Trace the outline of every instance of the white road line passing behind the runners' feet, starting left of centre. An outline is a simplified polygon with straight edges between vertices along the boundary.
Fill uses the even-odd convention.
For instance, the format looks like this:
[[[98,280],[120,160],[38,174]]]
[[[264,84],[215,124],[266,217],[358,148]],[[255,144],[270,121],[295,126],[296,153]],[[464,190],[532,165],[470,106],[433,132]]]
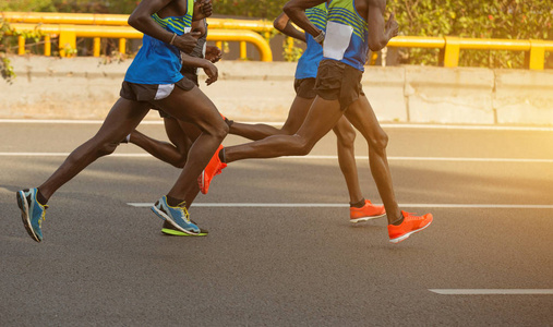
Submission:
[[[132,207],[151,207],[153,203],[130,202]],[[375,204],[382,205],[382,204]],[[235,207],[235,208],[345,208],[344,203],[193,203],[193,207]],[[525,204],[399,204],[405,208],[467,208],[467,209],[553,209],[553,205]]]

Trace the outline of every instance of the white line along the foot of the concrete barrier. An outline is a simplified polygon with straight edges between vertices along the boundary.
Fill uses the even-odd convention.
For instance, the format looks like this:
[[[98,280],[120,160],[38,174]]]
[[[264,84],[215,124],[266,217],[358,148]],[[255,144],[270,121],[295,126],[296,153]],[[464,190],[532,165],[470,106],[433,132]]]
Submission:
[[[69,119],[0,119],[0,123],[36,123],[36,124],[101,124],[103,120],[69,120]],[[284,122],[254,122],[251,124],[284,125]],[[142,125],[161,125],[163,120],[143,120]],[[505,126],[505,125],[457,125],[424,123],[381,123],[384,129],[428,129],[428,130],[469,130],[469,131],[541,131],[553,132],[550,126]]]

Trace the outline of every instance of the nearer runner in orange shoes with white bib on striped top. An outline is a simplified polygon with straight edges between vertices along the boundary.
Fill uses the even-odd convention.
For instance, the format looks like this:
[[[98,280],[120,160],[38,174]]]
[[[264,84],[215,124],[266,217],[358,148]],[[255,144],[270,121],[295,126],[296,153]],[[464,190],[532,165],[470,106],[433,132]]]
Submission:
[[[317,96],[304,123],[294,135],[274,135],[231,146],[219,150],[218,157],[228,164],[245,158],[306,155],[345,114],[369,144],[371,173],[386,208],[389,241],[398,243],[425,229],[433,218],[432,214],[414,216],[399,209],[386,157],[388,137],[361,87],[368,50],[384,48],[397,36],[398,25],[394,15],[384,21],[385,0],[330,0],[325,35],[305,15],[308,8],[323,2],[291,0],[284,8],[293,23],[324,45],[315,84]]]

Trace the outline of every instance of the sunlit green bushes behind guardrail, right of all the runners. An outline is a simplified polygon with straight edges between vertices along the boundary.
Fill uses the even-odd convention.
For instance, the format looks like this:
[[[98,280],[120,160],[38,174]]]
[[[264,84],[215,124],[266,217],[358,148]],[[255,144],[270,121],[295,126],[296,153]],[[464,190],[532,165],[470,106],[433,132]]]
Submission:
[[[402,35],[552,39],[551,0],[389,0]],[[436,64],[436,51],[409,49],[406,63]],[[462,50],[459,65],[522,68],[516,51]]]

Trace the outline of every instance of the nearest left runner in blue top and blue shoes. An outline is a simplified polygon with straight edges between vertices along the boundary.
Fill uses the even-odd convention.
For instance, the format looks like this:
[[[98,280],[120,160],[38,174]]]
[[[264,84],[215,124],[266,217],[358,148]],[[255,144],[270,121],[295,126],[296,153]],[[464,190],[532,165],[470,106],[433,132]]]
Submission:
[[[202,133],[190,148],[187,161],[172,189],[152,207],[182,232],[199,235],[202,230],[190,220],[184,197],[228,132],[213,102],[182,76],[181,51],[190,52],[199,33],[191,33],[192,20],[212,14],[209,0],[143,0],[129,17],[129,25],[144,33],[143,46],[127,71],[121,98],[113,105],[97,134],[73,150],[40,186],[16,192],[17,205],[29,235],[43,240],[41,221],[52,194],[89,164],[111,154],[133,131],[152,107],[161,108],[178,120],[191,122]],[[206,70],[206,73],[213,72]]]

